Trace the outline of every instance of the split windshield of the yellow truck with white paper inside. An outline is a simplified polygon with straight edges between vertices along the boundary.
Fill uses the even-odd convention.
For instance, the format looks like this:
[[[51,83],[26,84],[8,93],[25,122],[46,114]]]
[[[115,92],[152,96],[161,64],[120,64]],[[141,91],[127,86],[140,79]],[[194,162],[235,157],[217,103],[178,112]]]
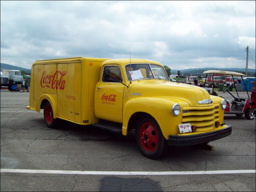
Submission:
[[[162,66],[156,64],[127,64],[125,65],[125,73],[129,81],[138,79],[163,79],[169,81]]]

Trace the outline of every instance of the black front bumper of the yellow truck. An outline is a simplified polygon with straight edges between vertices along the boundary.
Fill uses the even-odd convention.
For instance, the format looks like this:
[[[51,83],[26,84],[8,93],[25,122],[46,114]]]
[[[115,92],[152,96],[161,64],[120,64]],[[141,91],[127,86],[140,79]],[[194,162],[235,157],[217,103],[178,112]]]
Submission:
[[[207,133],[200,133],[195,135],[187,135],[187,136],[179,136],[179,135],[169,135],[168,137],[168,144],[171,146],[189,146],[189,145],[196,145],[196,144],[203,144],[208,143],[210,141],[215,141],[217,139],[221,139],[223,137],[227,137],[231,135],[232,126],[227,124],[228,127],[207,132]]]

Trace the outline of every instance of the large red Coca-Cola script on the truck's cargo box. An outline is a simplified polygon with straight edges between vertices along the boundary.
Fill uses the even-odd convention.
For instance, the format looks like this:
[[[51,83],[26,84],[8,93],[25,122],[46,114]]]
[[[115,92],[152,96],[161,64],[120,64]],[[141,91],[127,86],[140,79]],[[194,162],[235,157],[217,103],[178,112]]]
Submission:
[[[41,87],[64,90],[65,81],[63,80],[63,77],[66,75],[66,73],[67,71],[56,71],[54,75],[45,75],[46,71],[44,71],[41,77]],[[58,74],[61,76],[57,80],[56,77],[58,77]]]

